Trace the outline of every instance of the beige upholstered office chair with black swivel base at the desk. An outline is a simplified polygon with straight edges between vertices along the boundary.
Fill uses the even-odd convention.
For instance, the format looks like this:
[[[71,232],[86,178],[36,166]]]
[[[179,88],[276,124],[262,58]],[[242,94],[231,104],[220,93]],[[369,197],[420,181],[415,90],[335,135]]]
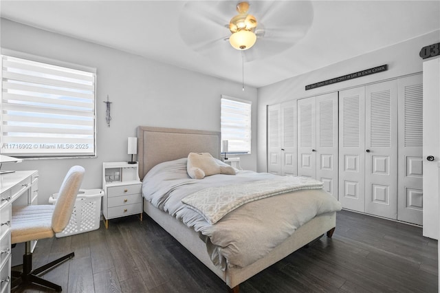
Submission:
[[[74,252],[32,270],[30,241],[54,237],[55,233],[63,231],[69,224],[84,173],[85,170],[82,166],[73,166],[67,172],[55,205],[12,207],[11,243],[25,242],[23,272],[12,272],[12,276],[17,278],[12,281],[12,287],[35,283],[61,292],[60,285],[42,279],[37,275],[43,274],[67,259],[71,259],[75,255]]]

